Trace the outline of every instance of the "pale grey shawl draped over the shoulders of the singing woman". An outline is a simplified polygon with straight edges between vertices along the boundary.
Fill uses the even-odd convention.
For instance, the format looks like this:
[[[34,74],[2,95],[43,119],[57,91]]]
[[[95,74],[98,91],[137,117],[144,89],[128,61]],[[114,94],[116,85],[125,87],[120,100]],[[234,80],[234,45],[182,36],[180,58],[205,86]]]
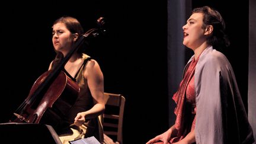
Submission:
[[[194,84],[197,144],[254,142],[235,75],[225,55],[207,47],[197,62]]]

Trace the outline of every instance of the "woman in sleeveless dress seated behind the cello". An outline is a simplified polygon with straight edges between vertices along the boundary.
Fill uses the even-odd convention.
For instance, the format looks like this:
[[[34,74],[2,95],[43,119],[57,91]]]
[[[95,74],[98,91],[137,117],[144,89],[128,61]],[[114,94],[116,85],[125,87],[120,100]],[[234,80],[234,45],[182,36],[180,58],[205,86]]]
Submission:
[[[52,42],[56,52],[49,70],[68,55],[73,45],[84,34],[84,30],[76,18],[60,17],[53,23]],[[105,110],[104,78],[98,62],[84,53],[79,47],[66,62],[62,71],[79,85],[78,97],[71,110],[65,113],[65,120],[59,121],[55,128],[62,143],[71,140],[94,136],[103,142],[103,127],[99,119]],[[69,95],[74,97],[74,95]]]

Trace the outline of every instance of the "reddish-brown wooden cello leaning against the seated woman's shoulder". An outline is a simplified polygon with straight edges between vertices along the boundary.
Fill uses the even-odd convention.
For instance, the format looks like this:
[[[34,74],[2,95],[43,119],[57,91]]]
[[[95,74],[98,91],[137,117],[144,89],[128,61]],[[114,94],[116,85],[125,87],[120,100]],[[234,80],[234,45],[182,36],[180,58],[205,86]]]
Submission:
[[[74,43],[73,49],[53,69],[44,72],[34,82],[28,97],[15,110],[14,116],[9,122],[43,123],[53,127],[57,126],[75,103],[80,90],[78,84],[63,72],[64,66],[82,44],[105,34],[104,18],[98,18],[97,24],[100,28],[92,28],[79,37]],[[70,95],[76,97],[70,97]],[[46,114],[50,114],[50,119],[44,117]]]

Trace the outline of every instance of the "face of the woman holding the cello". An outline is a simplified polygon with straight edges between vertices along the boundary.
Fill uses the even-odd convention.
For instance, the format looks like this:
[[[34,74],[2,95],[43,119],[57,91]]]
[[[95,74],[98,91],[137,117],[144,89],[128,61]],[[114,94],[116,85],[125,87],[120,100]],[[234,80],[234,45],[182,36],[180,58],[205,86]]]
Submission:
[[[53,25],[53,46],[55,50],[62,52],[63,55],[69,52],[73,44],[73,34],[66,28],[64,23]]]

